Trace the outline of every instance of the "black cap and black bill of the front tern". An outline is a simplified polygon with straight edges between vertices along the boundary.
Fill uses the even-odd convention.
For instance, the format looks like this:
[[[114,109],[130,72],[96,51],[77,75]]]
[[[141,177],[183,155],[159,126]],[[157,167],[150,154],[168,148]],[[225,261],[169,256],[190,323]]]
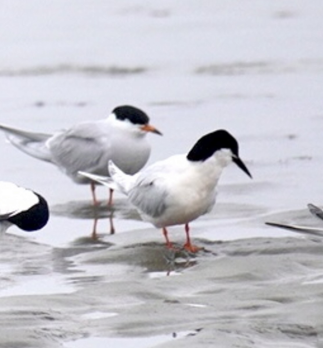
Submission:
[[[250,177],[247,167],[239,158],[239,145],[236,139],[224,129],[202,136],[190,150],[187,159],[190,161],[205,161],[221,149],[230,149],[233,162]]]

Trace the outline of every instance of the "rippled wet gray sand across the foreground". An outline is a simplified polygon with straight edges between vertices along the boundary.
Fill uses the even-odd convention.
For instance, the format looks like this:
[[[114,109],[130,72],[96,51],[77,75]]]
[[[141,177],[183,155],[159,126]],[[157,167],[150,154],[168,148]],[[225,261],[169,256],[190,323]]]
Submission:
[[[63,278],[71,288],[1,296],[1,346],[82,347],[99,337],[114,347],[113,338],[150,337],[149,347],[156,342],[158,347],[318,347],[323,334],[321,241],[198,242],[208,252],[191,263],[178,255],[174,265],[159,244],[74,251],[74,256],[65,251],[63,258],[38,245],[47,265],[55,257],[69,263]],[[35,246],[23,244],[26,263],[28,248]],[[40,282],[45,279],[39,274]],[[179,338],[172,337],[175,333]]]

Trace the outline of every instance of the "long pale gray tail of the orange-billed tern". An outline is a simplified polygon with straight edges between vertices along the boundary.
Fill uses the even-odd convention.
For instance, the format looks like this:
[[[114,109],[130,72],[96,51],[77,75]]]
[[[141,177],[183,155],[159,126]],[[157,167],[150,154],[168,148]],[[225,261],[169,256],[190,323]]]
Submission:
[[[0,125],[0,129],[5,132],[9,142],[19,150],[32,157],[52,162],[51,153],[46,147],[46,141],[52,136],[51,134],[31,133],[3,125]]]

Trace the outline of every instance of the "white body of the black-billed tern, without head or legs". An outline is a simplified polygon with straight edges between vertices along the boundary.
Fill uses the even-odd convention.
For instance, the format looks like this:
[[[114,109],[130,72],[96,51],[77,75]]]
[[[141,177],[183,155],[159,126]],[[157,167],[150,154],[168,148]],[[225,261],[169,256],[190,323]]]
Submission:
[[[157,228],[185,224],[208,213],[215,204],[222,171],[216,158],[200,166],[187,161],[186,155],[156,162],[133,177],[127,175],[126,180],[121,178],[124,174],[115,174],[113,166],[109,166],[113,180],[126,183],[121,190],[143,219]]]

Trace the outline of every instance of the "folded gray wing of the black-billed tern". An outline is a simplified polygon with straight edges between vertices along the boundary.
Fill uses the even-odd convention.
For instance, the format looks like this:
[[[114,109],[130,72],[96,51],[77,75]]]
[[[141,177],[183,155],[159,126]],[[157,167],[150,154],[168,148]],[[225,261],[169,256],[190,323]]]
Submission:
[[[141,213],[151,217],[158,217],[165,211],[167,196],[163,179],[154,175],[144,179],[139,176],[136,185],[128,193],[130,202]]]

